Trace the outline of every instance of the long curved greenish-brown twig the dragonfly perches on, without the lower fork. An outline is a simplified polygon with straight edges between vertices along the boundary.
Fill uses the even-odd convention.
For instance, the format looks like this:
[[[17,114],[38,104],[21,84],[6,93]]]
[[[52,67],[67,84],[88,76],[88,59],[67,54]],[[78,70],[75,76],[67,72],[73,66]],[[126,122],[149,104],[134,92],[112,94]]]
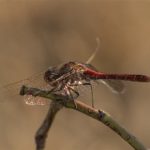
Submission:
[[[89,117],[101,121],[103,124],[112,129],[115,133],[117,133],[122,139],[128,142],[135,150],[146,150],[145,146],[135,136],[129,133],[125,128],[121,127],[109,114],[107,114],[103,110],[95,109],[77,100],[76,105],[74,105],[72,101],[66,100],[66,97],[63,95],[49,93],[48,91],[40,90],[37,88],[23,86],[20,94],[40,96],[51,99],[55,102],[61,102],[66,108],[80,111]]]

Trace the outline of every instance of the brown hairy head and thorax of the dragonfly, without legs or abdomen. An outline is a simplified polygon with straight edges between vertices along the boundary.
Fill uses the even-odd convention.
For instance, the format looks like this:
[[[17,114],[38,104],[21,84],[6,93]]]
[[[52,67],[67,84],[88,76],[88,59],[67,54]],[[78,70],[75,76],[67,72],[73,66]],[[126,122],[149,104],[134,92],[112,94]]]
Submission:
[[[44,73],[44,80],[52,87],[57,87],[58,85],[79,85],[85,77],[82,76],[83,67],[80,63],[69,62],[63,64],[60,67],[50,67]]]

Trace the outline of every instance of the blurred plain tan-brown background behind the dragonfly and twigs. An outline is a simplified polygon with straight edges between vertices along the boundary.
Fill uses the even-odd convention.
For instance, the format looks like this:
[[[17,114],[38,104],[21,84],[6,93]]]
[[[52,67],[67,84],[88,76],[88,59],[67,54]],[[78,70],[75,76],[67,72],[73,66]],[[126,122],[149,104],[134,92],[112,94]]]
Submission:
[[[96,48],[96,37],[100,50],[92,64],[97,69],[150,75],[148,1],[1,0],[1,87],[49,66],[86,62]],[[103,85],[96,87],[95,106],[150,147],[150,84],[125,85],[121,96]],[[18,97],[7,100],[0,103],[0,149],[35,149],[34,135],[48,106],[31,107]],[[102,123],[67,109],[56,116],[45,149],[132,150]]]

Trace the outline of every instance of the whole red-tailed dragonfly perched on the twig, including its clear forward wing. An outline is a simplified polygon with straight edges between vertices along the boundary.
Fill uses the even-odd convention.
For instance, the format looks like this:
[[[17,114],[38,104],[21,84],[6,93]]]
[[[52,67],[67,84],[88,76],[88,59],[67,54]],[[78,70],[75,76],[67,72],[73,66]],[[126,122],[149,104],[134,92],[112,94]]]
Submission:
[[[49,67],[46,71],[41,72],[40,74],[7,85],[5,88],[8,90],[17,89],[17,93],[19,93],[20,87],[23,84],[36,87],[36,84],[38,85],[39,82],[40,84],[42,83],[40,88],[49,90],[53,93],[64,94],[70,99],[75,100],[80,96],[78,87],[88,86],[91,89],[92,106],[94,107],[92,82],[97,81],[101,81],[114,93],[123,93],[125,87],[122,81],[150,82],[150,76],[141,74],[105,73],[98,71],[91,64],[70,61],[59,66]],[[25,103],[29,105],[45,105],[47,104],[47,101],[31,95],[25,97]]]

